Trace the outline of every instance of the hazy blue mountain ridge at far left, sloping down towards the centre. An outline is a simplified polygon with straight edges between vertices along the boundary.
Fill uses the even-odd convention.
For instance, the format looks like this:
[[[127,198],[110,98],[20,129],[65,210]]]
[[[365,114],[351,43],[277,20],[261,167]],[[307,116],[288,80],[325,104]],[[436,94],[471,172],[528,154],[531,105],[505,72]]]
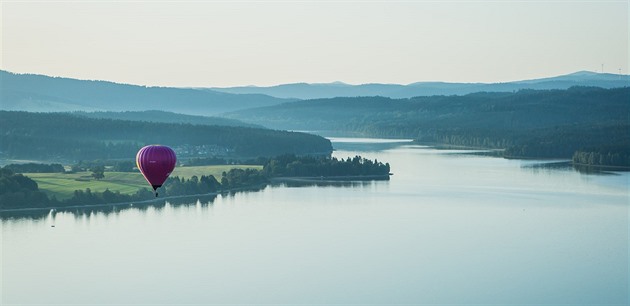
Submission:
[[[3,110],[143,111],[159,109],[194,115],[215,115],[288,100],[261,94],[230,94],[211,90],[146,87],[107,81],[88,81],[16,74],[0,70]]]

